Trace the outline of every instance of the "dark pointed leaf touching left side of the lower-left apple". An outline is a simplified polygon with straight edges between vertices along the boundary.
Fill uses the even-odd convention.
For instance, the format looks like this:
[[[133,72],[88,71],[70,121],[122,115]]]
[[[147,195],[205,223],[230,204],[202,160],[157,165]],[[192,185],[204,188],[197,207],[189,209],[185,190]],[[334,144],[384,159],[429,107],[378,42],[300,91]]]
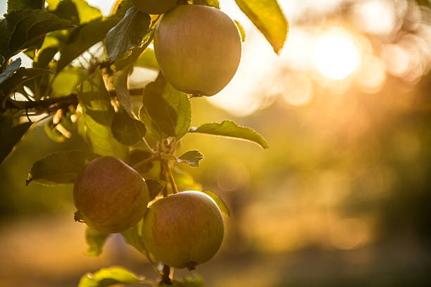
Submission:
[[[73,184],[85,165],[94,158],[97,158],[97,155],[83,151],[51,153],[32,165],[25,185],[31,181],[46,186]]]

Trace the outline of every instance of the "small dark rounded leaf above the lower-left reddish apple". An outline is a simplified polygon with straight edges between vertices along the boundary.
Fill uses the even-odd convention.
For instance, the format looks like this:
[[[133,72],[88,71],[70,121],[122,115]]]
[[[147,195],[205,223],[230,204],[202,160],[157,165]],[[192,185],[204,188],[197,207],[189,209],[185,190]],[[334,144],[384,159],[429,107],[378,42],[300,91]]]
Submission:
[[[144,124],[127,115],[124,110],[120,110],[113,116],[111,131],[114,138],[126,146],[142,141],[145,136]]]

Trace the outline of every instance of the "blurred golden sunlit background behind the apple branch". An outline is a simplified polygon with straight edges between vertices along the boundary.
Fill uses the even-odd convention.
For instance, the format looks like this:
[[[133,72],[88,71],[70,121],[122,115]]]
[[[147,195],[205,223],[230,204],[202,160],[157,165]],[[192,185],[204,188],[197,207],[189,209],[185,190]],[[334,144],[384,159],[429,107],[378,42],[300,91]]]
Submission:
[[[105,15],[113,4],[88,2]],[[245,29],[242,63],[220,94],[192,100],[192,125],[235,120],[270,148],[185,137],[183,151],[206,157],[187,171],[231,210],[222,249],[197,273],[210,287],[431,286],[430,1],[279,2],[291,27],[276,56],[220,0]],[[71,146],[84,146],[77,133],[58,144],[39,125],[1,163],[0,286],[77,286],[112,264],[155,278],[120,236],[84,255],[72,186],[25,187],[32,162]]]

